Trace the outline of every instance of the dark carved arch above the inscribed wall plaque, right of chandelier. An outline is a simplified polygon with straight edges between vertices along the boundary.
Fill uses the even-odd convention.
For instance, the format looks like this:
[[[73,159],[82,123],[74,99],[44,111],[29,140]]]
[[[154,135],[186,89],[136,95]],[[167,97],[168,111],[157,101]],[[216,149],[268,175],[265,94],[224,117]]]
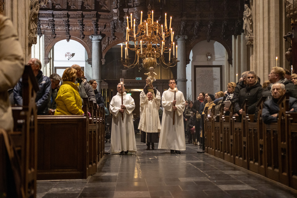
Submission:
[[[190,53],[191,53],[191,50],[193,49],[193,47],[201,42],[201,41],[205,41],[207,40],[206,36],[205,37],[200,37],[199,39],[193,41],[189,47],[186,49],[186,57],[187,57],[187,63],[188,63],[188,60],[190,60]],[[224,48],[226,49],[227,51],[227,54],[228,54],[228,63],[230,65],[232,65],[232,46],[229,46],[224,40],[218,38],[218,37],[211,37],[211,40],[213,41],[217,41],[219,42],[220,44],[222,44],[224,46]]]

